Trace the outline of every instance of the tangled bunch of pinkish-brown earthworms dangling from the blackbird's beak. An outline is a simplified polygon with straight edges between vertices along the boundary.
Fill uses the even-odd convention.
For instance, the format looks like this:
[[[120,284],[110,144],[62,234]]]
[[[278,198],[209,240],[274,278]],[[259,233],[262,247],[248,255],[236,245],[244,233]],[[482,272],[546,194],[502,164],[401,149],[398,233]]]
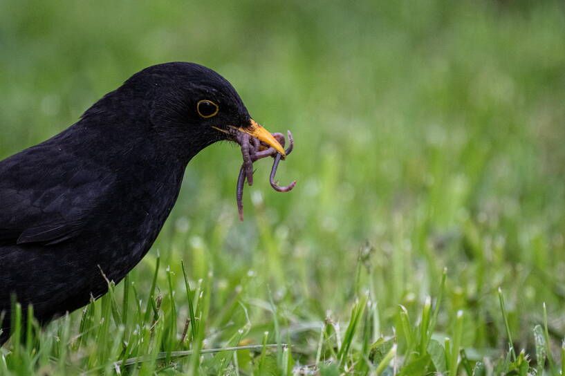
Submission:
[[[272,136],[284,147],[285,140],[284,135],[281,133],[271,133]],[[288,131],[288,149],[285,150],[286,155],[290,154],[294,148],[293,135]],[[236,141],[241,145],[241,156],[243,157],[243,163],[239,169],[239,176],[237,177],[237,187],[236,187],[236,199],[237,199],[237,212],[239,213],[239,219],[243,220],[243,187],[245,186],[246,179],[249,185],[253,184],[253,162],[272,156],[275,160],[272,163],[272,169],[269,176],[269,182],[273,189],[279,192],[288,192],[293,189],[296,185],[296,180],[293,180],[286,187],[279,187],[278,182],[275,182],[275,174],[277,173],[277,168],[279,162],[283,159],[281,153],[273,147],[264,147],[261,142],[250,135],[239,132],[235,134]],[[265,148],[261,150],[261,148]]]

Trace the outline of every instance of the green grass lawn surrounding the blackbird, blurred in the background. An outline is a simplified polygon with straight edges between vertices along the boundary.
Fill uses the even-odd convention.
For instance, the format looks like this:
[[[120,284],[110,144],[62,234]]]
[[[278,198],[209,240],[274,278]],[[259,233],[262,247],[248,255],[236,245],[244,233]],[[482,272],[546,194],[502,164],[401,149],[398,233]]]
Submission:
[[[238,151],[206,149],[128,279],[17,326],[28,340],[0,349],[0,375],[559,375],[564,12],[0,0],[0,158],[182,60],[293,131],[279,178],[298,180],[277,194],[259,162],[239,223]]]

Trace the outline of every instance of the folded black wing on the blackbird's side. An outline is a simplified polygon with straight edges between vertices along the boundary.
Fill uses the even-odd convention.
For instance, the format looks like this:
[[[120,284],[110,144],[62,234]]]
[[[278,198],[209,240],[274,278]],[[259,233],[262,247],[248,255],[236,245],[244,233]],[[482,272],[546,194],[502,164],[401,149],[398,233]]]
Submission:
[[[70,153],[33,147],[0,162],[0,245],[52,245],[98,215],[114,177]]]

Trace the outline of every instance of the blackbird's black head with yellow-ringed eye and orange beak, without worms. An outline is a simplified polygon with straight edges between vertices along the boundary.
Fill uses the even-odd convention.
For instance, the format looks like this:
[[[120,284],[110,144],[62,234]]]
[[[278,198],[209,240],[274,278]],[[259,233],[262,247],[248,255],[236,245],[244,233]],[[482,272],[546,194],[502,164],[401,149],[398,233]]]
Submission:
[[[281,144],[252,120],[230,82],[205,66],[185,62],[150,66],[118,91],[144,104],[152,129],[183,158],[192,158],[216,141],[235,140],[235,130],[284,156]]]

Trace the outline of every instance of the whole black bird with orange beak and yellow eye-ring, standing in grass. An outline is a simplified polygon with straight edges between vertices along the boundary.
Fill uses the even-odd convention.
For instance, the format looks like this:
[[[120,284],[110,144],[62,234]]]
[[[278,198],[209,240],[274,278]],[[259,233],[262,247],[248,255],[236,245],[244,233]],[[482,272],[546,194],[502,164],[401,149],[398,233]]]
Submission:
[[[233,129],[284,156],[225,78],[172,62],[136,73],[68,129],[2,160],[0,344],[14,297],[46,323],[104,294],[104,275],[118,283],[154,243],[189,160],[235,140]]]

